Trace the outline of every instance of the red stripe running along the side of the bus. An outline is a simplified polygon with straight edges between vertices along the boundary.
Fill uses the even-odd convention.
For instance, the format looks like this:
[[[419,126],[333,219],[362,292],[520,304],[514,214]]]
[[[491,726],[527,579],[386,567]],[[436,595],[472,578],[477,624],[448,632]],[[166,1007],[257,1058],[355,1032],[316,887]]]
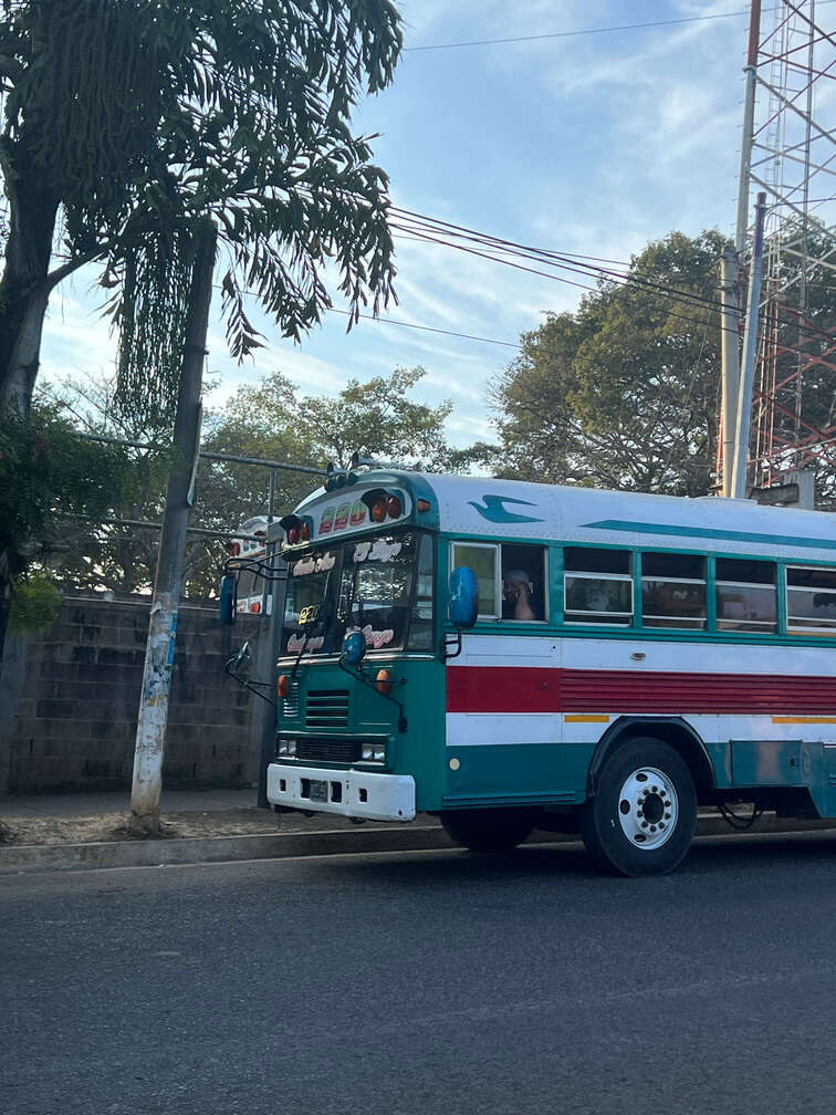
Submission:
[[[448,712],[836,714],[836,678],[450,666]]]

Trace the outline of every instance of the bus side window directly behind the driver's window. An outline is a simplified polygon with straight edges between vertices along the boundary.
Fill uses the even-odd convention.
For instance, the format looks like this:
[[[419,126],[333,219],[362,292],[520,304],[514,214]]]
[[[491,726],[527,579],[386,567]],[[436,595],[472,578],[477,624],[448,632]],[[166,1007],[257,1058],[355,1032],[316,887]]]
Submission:
[[[629,627],[633,621],[632,554],[628,550],[566,546],[565,620]]]

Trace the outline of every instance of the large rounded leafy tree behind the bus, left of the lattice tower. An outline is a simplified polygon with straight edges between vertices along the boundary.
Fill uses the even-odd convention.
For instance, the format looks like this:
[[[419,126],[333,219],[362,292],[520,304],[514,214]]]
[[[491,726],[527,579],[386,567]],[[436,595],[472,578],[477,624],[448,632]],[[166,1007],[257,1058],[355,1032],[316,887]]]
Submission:
[[[715,467],[719,233],[672,233],[575,313],[523,337],[493,385],[504,475],[697,495]]]

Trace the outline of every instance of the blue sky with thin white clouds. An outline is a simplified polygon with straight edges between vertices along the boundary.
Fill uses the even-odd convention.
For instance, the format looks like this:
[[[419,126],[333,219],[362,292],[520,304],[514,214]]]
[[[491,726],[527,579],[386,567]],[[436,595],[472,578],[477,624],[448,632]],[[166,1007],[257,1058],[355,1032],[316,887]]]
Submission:
[[[401,0],[405,51],[393,85],[364,100],[354,128],[377,134],[375,161],[396,205],[526,244],[629,260],[679,230],[731,233],[748,20],[741,0]],[[624,29],[664,20],[693,22]],[[601,31],[602,28],[622,28]],[[577,33],[583,32],[583,33]],[[589,33],[594,32],[594,33]],[[420,49],[552,35],[535,41]],[[516,343],[583,291],[440,245],[396,240],[401,322]],[[95,273],[52,297],[47,378],[113,371],[115,341],[98,313]],[[337,307],[344,306],[334,298]],[[222,406],[243,384],[285,374],[302,394],[336,395],[395,367],[420,365],[414,398],[449,399],[449,440],[495,434],[487,385],[513,348],[330,314],[301,345],[252,307],[266,347],[236,363],[220,297],[208,371]]]

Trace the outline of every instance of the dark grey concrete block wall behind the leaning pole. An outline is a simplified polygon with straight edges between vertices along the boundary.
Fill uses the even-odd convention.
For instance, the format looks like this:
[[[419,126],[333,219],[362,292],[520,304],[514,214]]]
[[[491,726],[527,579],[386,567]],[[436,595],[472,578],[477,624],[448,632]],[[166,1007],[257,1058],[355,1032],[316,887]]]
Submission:
[[[148,607],[147,599],[68,598],[50,629],[7,643],[0,794],[130,785]],[[227,628],[213,608],[181,608],[165,785],[257,780],[257,698],[223,666],[244,639],[255,643],[264,622],[240,617]]]

